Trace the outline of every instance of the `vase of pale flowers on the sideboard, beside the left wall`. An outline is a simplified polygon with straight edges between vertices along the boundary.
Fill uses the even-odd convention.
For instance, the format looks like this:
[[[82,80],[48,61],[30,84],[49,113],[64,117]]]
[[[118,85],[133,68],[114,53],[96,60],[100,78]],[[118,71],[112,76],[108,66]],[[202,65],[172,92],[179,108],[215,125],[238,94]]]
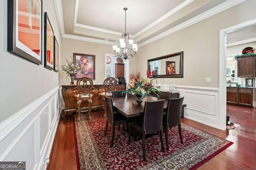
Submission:
[[[71,78],[70,84],[74,84],[74,76],[76,76],[76,74],[80,68],[79,68],[78,64],[74,64],[74,61],[72,58],[71,58],[71,61],[68,61],[68,59],[66,59],[66,62],[68,63],[68,65],[62,65],[62,66],[60,66],[60,68],[62,68],[62,71],[66,72],[66,74],[68,74],[68,76],[70,76],[70,78]],[[68,76],[67,76],[67,78],[68,78]]]

